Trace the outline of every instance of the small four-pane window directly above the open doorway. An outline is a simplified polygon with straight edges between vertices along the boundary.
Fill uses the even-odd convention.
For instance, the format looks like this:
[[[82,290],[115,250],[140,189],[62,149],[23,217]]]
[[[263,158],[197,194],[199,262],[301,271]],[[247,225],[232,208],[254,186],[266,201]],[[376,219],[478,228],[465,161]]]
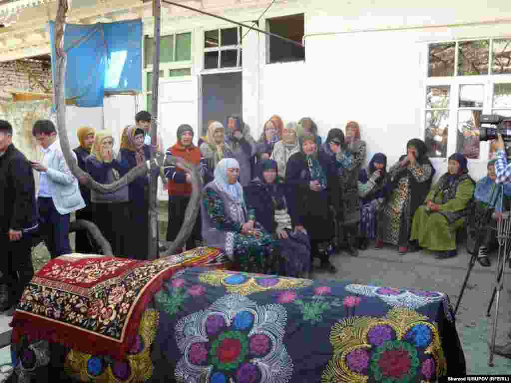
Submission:
[[[241,28],[223,28],[204,32],[204,69],[242,66]]]

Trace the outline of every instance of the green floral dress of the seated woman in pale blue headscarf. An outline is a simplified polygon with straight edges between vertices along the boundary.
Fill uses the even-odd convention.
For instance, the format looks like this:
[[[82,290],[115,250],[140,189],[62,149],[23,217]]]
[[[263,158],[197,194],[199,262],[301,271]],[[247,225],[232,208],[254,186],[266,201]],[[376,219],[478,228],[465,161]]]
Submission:
[[[214,228],[225,234],[224,250],[227,256],[234,259],[241,271],[274,273],[278,267],[277,242],[259,223],[254,225],[254,229],[261,232],[260,236],[242,234],[243,224],[249,220],[255,221],[253,210],[247,210],[245,202],[225,203],[226,196],[222,199],[220,193],[212,187],[204,190],[203,211]]]

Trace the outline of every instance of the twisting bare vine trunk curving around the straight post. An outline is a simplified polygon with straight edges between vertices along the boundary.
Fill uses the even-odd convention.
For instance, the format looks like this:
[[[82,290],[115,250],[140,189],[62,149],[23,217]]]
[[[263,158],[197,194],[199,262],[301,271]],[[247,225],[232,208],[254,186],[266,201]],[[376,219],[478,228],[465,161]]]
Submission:
[[[71,154],[71,148],[69,147],[69,140],[67,137],[67,130],[65,126],[65,71],[66,71],[66,53],[64,51],[64,28],[65,28],[65,18],[68,10],[67,0],[57,0],[57,16],[55,19],[55,47],[56,47],[56,76],[55,76],[55,104],[57,108],[57,127],[58,134],[60,139],[60,146],[62,149],[62,153],[64,154],[64,158],[66,160],[67,166],[71,170],[71,173],[80,181],[80,183],[84,184],[86,187],[95,190],[99,193],[113,193],[123,186],[129,184],[136,178],[140,176],[146,176],[148,172],[148,167],[154,169],[154,167],[158,167],[161,169],[161,166],[164,165],[164,156],[162,153],[156,154],[156,158],[153,161],[148,161],[148,164],[141,164],[134,167],[130,170],[125,176],[123,176],[118,181],[103,185],[94,181],[89,174],[85,173],[78,166],[77,161],[75,161],[73,155]],[[158,33],[159,36],[159,33]],[[158,74],[155,75],[156,79],[158,78]],[[158,82],[156,80],[156,82]],[[153,122],[154,124],[154,122]],[[154,129],[154,127],[153,127]],[[153,142],[154,138],[152,138]],[[200,210],[200,196],[201,196],[201,180],[197,169],[191,163],[184,161],[182,158],[169,156],[165,159],[165,165],[175,164],[182,169],[186,169],[190,172],[192,177],[192,195],[190,198],[190,203],[187,206],[187,210],[185,213],[184,223],[176,237],[176,240],[172,243],[170,248],[165,252],[165,255],[171,255],[175,252],[176,249],[183,247],[184,243],[187,241],[190,233],[192,232],[193,225],[197,218],[197,214]],[[157,225],[156,225],[157,226]]]

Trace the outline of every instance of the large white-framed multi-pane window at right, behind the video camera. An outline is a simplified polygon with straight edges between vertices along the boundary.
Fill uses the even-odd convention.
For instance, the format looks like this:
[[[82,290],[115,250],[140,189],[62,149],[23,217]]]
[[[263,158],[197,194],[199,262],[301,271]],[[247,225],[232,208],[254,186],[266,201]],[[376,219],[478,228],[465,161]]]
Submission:
[[[511,116],[511,39],[428,44],[425,142],[430,157],[485,160],[481,114]],[[450,127],[456,127],[449,129]]]

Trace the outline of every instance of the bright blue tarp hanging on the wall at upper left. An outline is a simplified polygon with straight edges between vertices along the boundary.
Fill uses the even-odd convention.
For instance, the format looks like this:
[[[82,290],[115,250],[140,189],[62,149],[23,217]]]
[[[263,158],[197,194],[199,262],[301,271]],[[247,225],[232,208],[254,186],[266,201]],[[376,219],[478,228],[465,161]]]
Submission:
[[[55,22],[50,22],[52,78],[55,84]],[[77,106],[103,106],[103,95],[142,90],[142,21],[94,25],[66,24],[65,98]]]

